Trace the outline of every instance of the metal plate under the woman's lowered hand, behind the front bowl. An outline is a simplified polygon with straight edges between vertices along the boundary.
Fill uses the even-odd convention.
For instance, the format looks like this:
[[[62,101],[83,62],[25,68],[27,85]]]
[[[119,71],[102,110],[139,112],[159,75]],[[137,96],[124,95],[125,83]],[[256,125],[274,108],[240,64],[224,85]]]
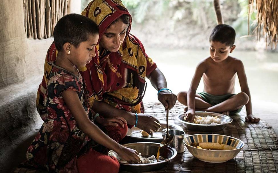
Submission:
[[[128,129],[126,133],[126,138],[128,138],[128,142],[157,142],[160,143],[163,140],[162,137],[162,130],[166,129],[166,123],[160,123],[161,129],[154,132],[153,136],[143,137],[141,132],[142,130],[138,127],[132,127],[131,129]],[[176,124],[169,124],[170,130],[182,130],[182,127]]]

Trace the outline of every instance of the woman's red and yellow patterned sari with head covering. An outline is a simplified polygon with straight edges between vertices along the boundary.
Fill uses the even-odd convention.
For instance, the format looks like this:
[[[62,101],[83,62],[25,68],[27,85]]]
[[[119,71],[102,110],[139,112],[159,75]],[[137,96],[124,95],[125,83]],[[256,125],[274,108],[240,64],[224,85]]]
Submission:
[[[82,11],[98,24],[99,38],[106,28],[123,14],[130,15],[120,0],[94,0]],[[90,106],[94,100],[104,101],[111,106],[129,112],[143,112],[142,98],[146,90],[146,76],[156,69],[156,64],[146,54],[144,46],[130,34],[131,21],[126,38],[117,52],[99,51],[86,67],[78,67],[86,80]],[[48,73],[56,60],[54,43],[47,52],[45,73],[37,94],[37,108],[40,114],[46,111],[43,100],[48,83]],[[42,117],[43,118],[43,117]],[[44,119],[44,118],[43,118]]]

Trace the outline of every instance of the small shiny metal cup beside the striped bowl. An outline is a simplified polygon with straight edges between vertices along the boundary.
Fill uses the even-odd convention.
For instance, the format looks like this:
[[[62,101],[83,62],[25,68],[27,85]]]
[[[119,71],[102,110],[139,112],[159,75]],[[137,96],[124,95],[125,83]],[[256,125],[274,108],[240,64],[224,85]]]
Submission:
[[[166,129],[165,129],[166,130]],[[164,130],[163,130],[164,131]],[[184,152],[184,143],[182,140],[184,139],[184,131],[181,130],[168,130],[169,135],[174,135],[173,141],[170,143],[170,146],[177,150],[177,153]],[[163,138],[165,139],[166,131],[162,133]]]

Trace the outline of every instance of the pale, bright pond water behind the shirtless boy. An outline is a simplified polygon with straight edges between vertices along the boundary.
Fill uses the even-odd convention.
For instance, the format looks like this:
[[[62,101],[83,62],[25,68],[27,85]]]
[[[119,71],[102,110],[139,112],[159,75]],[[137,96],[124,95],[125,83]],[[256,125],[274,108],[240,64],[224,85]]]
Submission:
[[[188,90],[196,65],[209,56],[209,50],[166,50],[146,48],[158,68],[164,73],[168,88],[178,94]],[[237,51],[230,56],[241,59],[245,67],[252,102],[271,102],[278,104],[278,53]],[[157,102],[157,91],[147,80],[148,86],[144,102]],[[202,79],[197,92],[203,90]],[[236,79],[235,92],[241,92]]]

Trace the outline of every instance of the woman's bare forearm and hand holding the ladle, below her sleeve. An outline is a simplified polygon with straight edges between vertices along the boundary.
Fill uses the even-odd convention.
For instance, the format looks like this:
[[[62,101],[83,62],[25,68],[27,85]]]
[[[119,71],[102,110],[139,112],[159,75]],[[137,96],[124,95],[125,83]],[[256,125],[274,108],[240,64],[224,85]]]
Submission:
[[[152,86],[157,90],[161,90],[162,88],[167,88],[167,82],[163,75],[163,73],[158,69],[154,69],[152,73],[147,76],[150,80]],[[177,96],[168,90],[162,90],[158,94],[158,100],[163,104],[165,109],[172,109],[177,101]]]

